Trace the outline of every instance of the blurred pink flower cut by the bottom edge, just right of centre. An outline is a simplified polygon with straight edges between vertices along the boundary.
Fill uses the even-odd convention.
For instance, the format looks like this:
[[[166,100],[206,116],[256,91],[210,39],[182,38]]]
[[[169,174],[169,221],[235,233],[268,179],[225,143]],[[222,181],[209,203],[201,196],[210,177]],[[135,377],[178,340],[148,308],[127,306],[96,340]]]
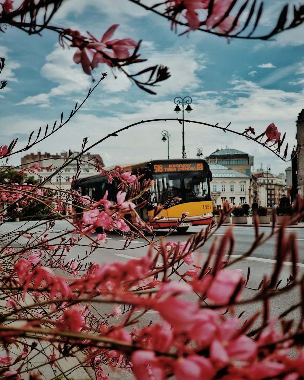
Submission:
[[[211,380],[216,372],[211,361],[199,355],[179,358],[174,363],[174,375],[177,380]]]

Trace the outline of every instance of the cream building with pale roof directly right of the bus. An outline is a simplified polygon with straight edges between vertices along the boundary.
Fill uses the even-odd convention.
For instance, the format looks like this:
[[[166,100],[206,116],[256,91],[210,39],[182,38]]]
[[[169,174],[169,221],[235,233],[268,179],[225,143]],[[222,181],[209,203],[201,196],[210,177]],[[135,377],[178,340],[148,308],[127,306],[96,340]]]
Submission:
[[[215,207],[227,199],[236,206],[251,203],[251,177],[219,164],[209,165],[212,173],[211,197]]]

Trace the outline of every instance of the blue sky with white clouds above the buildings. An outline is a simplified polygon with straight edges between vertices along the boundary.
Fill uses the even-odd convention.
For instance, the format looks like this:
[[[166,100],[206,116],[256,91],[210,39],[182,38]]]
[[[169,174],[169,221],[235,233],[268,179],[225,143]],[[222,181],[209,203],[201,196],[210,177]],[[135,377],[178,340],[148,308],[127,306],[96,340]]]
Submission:
[[[153,4],[152,0],[143,3]],[[15,2],[17,3],[17,1]],[[269,30],[286,1],[268,0],[260,30]],[[289,2],[292,4],[293,2]],[[295,2],[298,6],[299,2]],[[142,40],[139,53],[147,62],[130,65],[130,72],[161,64],[171,77],[160,83],[151,95],[133,85],[119,71],[99,65],[95,79],[107,71],[76,115],[57,133],[23,154],[12,155],[10,165],[19,165],[30,152],[81,150],[82,139],[88,146],[120,128],[141,120],[177,117],[175,97],[192,98],[190,114],[185,119],[218,123],[239,132],[249,126],[256,135],[274,123],[285,133],[289,154],[296,144],[296,119],[304,108],[304,26],[277,35],[271,41],[230,40],[194,31],[180,35],[170,22],[128,0],[65,0],[50,25],[79,30],[100,39],[113,24],[119,24],[114,38]],[[18,138],[14,150],[27,144],[29,135],[55,120],[67,118],[76,102],[81,103],[94,86],[92,78],[73,62],[75,48],[63,49],[58,35],[44,30],[28,36],[8,27],[0,33],[0,56],[5,56],[1,80],[8,85],[0,91],[0,146]],[[181,112],[178,117],[181,117]],[[106,166],[138,163],[167,158],[167,143],[161,141],[163,130],[169,135],[170,158],[182,158],[182,125],[177,121],[150,122],[129,128],[90,149],[100,154]],[[42,133],[43,133],[42,132]],[[187,158],[203,157],[216,149],[239,149],[254,156],[253,169],[271,165],[271,172],[285,172],[284,162],[271,151],[243,136],[215,128],[185,123]]]

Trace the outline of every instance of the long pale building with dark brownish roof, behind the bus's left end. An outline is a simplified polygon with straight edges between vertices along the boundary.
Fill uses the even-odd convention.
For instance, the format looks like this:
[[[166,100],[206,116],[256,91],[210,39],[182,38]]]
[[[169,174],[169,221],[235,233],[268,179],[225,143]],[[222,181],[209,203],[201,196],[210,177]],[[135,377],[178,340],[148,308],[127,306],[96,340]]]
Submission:
[[[47,177],[51,176],[57,169],[60,169],[67,161],[68,157],[73,158],[78,154],[79,152],[73,152],[69,157],[68,152],[62,152],[60,154],[51,154],[48,152],[45,152],[44,154],[41,154],[41,152],[37,152],[36,154],[30,153],[21,158],[21,166],[22,168],[29,168],[37,163],[43,169],[41,171],[35,169],[35,172],[31,175],[42,182]],[[94,157],[100,161],[101,166],[105,166],[103,159],[99,154],[90,154],[87,152],[81,156],[81,174],[79,177],[89,177],[97,174],[95,167],[92,165],[92,163],[96,163]],[[77,160],[74,160],[63,169],[60,169],[55,176],[51,177],[46,183],[46,186],[57,190],[68,190],[71,186],[73,176],[76,173]]]

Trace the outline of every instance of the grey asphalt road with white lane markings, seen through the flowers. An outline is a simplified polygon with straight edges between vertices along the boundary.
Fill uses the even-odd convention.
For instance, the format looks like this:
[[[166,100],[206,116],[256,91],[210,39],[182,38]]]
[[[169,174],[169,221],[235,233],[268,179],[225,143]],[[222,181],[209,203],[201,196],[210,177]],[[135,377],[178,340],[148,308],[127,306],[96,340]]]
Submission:
[[[27,223],[27,225],[32,225],[33,223]],[[61,231],[65,230],[66,228],[70,229],[70,225],[65,221],[57,221],[55,223],[54,228],[52,228],[51,231],[48,233],[49,239],[55,239],[54,242],[59,242],[58,236],[60,235]],[[201,265],[204,261],[204,258],[206,258],[208,250],[214,239],[217,239],[219,242],[220,239],[224,236],[227,229],[230,228],[227,225],[223,225],[218,229],[211,239],[206,242],[206,244],[198,249],[195,252],[195,264]],[[0,236],[1,234],[5,234],[6,232],[10,231],[18,231],[18,230],[24,230],[24,226],[22,226],[22,222],[12,222],[12,223],[5,223],[4,225],[0,226]],[[170,236],[166,236],[168,233],[168,230],[162,230],[157,231],[154,242],[160,243],[160,241],[163,239],[163,241],[187,241],[187,239],[193,234],[197,233],[201,230],[199,227],[192,227],[189,228],[189,230],[184,234],[178,234],[177,232],[172,233]],[[33,231],[35,231],[36,234],[41,234],[41,228],[35,228]],[[39,232],[40,231],[40,232]],[[260,227],[260,232],[263,232],[265,236],[268,236],[271,233],[271,228],[269,227]],[[296,236],[296,244],[298,246],[298,271],[299,274],[302,275],[304,272],[304,229],[302,228],[287,228],[286,234],[295,234]],[[235,238],[235,248],[233,252],[233,258],[238,257],[239,255],[242,255],[251,243],[254,240],[254,228],[253,226],[234,226],[233,227],[233,235]],[[44,235],[43,235],[44,236]],[[69,237],[70,234],[67,236]],[[96,237],[96,234],[93,234],[92,237]],[[11,245],[12,247],[18,248],[21,245],[25,244],[27,242],[26,237],[19,237],[16,241],[14,241]],[[119,235],[117,233],[109,233],[107,238],[106,244],[100,244],[100,248],[95,250],[93,253],[91,253],[90,248],[88,248],[88,244],[90,244],[90,240],[87,237],[82,237],[76,247],[74,247],[70,253],[67,253],[66,262],[71,257],[76,258],[76,260],[83,260],[87,262],[94,262],[97,264],[102,264],[105,262],[114,262],[114,261],[127,261],[133,258],[140,258],[144,255],[146,255],[148,250],[148,243],[144,241],[144,239],[134,239],[125,249],[123,249],[126,238],[122,235]],[[53,244],[53,243],[52,243]],[[246,260],[239,261],[238,263],[233,265],[233,268],[242,269],[244,272],[244,275],[246,277],[248,267],[250,266],[250,279],[248,282],[248,288],[244,291],[244,299],[252,298],[256,295],[256,289],[258,285],[261,282],[261,279],[263,278],[263,275],[270,275],[275,263],[275,247],[276,247],[276,238],[270,237],[267,239],[265,244],[263,246],[258,247],[258,249],[255,250],[253,255]],[[286,285],[287,278],[289,277],[291,273],[291,261],[290,258],[286,259],[286,263],[283,265],[282,271],[279,275],[279,279],[282,279],[281,285]],[[212,264],[211,264],[212,266]],[[183,264],[183,268],[180,269],[180,272],[183,273],[186,271],[188,266],[186,264]],[[194,298],[193,298],[194,299]],[[279,297],[275,297],[271,299],[270,302],[270,315],[271,317],[278,315],[282,311],[286,310],[288,307],[290,307],[293,304],[296,304],[299,301],[299,292],[297,290],[290,291],[286,294],[281,294]],[[92,305],[95,308],[95,312],[99,313],[101,316],[103,313],[110,313],[113,309],[113,305],[102,305],[100,304],[93,304]],[[262,310],[261,303],[249,303],[246,305],[242,305],[236,308],[236,315],[244,311],[244,315],[242,316],[242,319],[249,318],[253,313],[256,312],[256,310]],[[298,320],[299,313],[297,310],[293,311],[288,315],[289,319],[293,318],[295,320]],[[157,314],[154,311],[149,311],[144,315],[141,319],[141,326],[147,325],[150,320],[153,320],[154,322],[157,320]],[[118,377],[119,378],[119,377]],[[130,379],[133,377],[130,377]],[[127,378],[126,378],[127,379]]]

